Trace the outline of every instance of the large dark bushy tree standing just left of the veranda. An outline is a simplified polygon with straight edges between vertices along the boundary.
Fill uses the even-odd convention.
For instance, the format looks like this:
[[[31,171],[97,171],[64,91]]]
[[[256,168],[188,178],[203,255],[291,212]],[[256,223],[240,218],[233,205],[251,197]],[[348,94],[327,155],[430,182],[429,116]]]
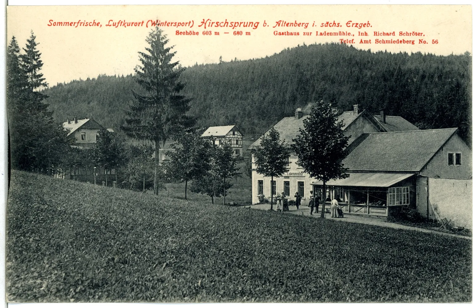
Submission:
[[[332,112],[331,104],[323,100],[311,107],[311,113],[303,124],[304,129],[299,129],[299,135],[293,139],[291,148],[297,155],[297,164],[310,177],[322,181],[324,202],[321,217],[324,218],[327,181],[348,177],[341,161],[347,156],[349,137],[344,136],[344,123],[337,121],[337,114]]]

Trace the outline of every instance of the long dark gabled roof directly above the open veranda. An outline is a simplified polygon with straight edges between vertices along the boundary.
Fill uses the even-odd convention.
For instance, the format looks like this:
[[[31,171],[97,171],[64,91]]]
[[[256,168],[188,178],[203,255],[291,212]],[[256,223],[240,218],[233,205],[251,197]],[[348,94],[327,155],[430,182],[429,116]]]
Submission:
[[[342,162],[350,171],[419,172],[457,128],[363,134]],[[356,145],[357,144],[357,145]]]

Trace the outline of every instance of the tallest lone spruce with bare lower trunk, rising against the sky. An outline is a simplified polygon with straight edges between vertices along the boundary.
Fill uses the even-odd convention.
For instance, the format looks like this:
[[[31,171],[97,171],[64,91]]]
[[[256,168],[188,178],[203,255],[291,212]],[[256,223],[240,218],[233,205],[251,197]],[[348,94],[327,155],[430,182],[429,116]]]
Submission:
[[[188,127],[192,119],[186,116],[190,99],[180,95],[184,84],[178,81],[178,62],[172,62],[176,52],[167,36],[156,27],[146,39],[146,52],[139,52],[141,65],[136,67],[136,81],[143,93],[133,91],[133,103],[126,111],[126,124],[122,129],[129,137],[150,140],[155,145],[154,193],[158,194],[158,168],[160,143],[165,142],[181,128]]]

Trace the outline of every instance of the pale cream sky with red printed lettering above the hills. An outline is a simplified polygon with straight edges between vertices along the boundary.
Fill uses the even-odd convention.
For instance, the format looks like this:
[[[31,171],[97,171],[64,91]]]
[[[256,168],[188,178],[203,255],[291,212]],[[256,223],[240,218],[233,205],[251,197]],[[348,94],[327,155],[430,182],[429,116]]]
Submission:
[[[30,30],[33,30],[36,41],[40,43],[38,49],[44,63],[42,72],[53,86],[57,82],[95,78],[99,74],[132,73],[139,64],[138,51],[146,47],[145,39],[150,31],[148,20],[186,23],[184,26],[161,28],[168,34],[170,44],[175,45],[175,59],[182,66],[190,66],[196,62],[216,63],[220,56],[224,61],[235,57],[238,60],[262,58],[303,42],[338,42],[340,39],[348,40],[356,48],[372,51],[421,51],[437,55],[472,53],[471,17],[468,5],[21,6],[8,7],[7,39],[10,41],[14,35],[20,47],[24,47]],[[112,20],[111,23],[119,20],[137,22],[137,26],[108,27],[109,20]],[[204,29],[203,25],[199,27],[203,20],[218,22],[218,25],[223,25],[225,21],[228,24],[237,22],[238,27],[213,27],[213,24],[211,28]],[[281,23],[277,26],[279,20]],[[292,24],[283,27],[283,20]],[[348,25],[351,27],[347,27],[350,20]],[[53,26],[54,22],[78,21],[96,21],[101,26]],[[334,21],[336,26],[340,23],[340,27],[321,27],[327,21],[332,26]],[[240,27],[239,22],[252,23],[253,27],[244,27],[243,23]],[[352,27],[353,23],[357,23],[357,28]],[[255,26],[256,29],[253,29]],[[195,31],[198,35],[176,35],[177,30]],[[204,35],[204,31],[211,31],[211,35]],[[215,35],[215,31],[219,35]],[[234,31],[242,31],[242,34],[234,35],[239,34]],[[299,32],[299,36],[275,35],[274,31]],[[337,36],[316,36],[316,31],[319,34],[341,33]],[[375,31],[395,31],[395,36],[374,36]],[[400,31],[422,35],[400,36]],[[304,32],[309,32],[310,36],[304,36]],[[350,36],[344,35],[348,34],[346,32]],[[369,36],[359,36],[359,32],[367,32]],[[415,40],[415,44],[376,44],[376,39]],[[361,44],[360,40],[371,43]],[[419,44],[419,40],[426,40],[427,43]]]

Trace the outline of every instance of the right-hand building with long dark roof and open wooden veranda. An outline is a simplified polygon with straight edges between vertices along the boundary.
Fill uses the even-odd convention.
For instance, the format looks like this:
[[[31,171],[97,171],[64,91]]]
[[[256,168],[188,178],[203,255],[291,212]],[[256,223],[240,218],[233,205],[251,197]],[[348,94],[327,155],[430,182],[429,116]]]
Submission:
[[[456,128],[363,134],[350,147],[342,161],[349,177],[326,183],[326,198],[339,198],[345,213],[388,216],[417,210],[427,219],[440,219],[430,202],[431,179],[472,177],[472,151]],[[312,184],[319,194],[323,183]],[[463,191],[448,186],[438,193],[442,190],[450,196]],[[472,195],[466,198],[472,202]]]

